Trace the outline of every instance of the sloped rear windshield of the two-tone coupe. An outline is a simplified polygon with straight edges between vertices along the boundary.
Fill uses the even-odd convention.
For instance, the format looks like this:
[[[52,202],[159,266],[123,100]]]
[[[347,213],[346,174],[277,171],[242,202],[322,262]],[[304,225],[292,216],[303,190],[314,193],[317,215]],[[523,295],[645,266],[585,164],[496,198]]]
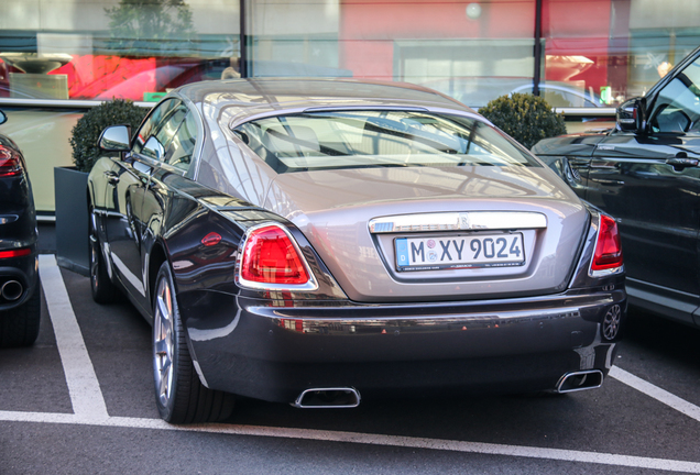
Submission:
[[[233,130],[277,173],[367,167],[539,166],[475,119],[417,111],[277,115]]]

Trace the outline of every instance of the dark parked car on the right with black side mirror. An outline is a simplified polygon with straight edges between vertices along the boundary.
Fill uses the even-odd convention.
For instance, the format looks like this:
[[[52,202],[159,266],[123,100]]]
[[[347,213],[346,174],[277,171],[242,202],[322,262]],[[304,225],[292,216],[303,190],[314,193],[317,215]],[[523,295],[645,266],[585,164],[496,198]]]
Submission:
[[[615,130],[533,152],[617,221],[630,301],[700,325],[700,48],[624,102]]]

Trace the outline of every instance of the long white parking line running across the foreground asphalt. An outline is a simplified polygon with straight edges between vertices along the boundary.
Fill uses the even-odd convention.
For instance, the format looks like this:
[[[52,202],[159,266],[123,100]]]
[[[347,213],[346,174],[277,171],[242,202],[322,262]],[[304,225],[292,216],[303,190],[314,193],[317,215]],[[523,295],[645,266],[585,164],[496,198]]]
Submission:
[[[63,423],[78,426],[100,426],[127,429],[173,430],[205,432],[225,435],[269,437],[278,439],[311,440],[318,442],[341,442],[368,445],[384,445],[404,449],[440,450],[475,453],[483,455],[518,456],[538,460],[556,460],[598,465],[648,468],[655,471],[700,474],[700,463],[669,459],[652,459],[599,452],[583,452],[562,449],[542,449],[524,445],[504,445],[481,442],[464,442],[442,439],[426,439],[402,435],[367,434],[359,432],[325,431],[314,429],[274,428],[261,426],[199,424],[172,426],[160,419],[109,417],[91,419],[85,416],[42,412],[0,411],[0,420],[13,422]]]

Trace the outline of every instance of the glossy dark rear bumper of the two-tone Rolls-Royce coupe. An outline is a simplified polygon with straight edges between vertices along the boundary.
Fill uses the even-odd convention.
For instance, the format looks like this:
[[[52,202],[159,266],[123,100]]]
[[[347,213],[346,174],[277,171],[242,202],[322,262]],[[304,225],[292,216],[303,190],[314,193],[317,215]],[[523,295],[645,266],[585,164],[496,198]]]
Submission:
[[[626,310],[622,287],[422,305],[270,307],[207,291],[181,300],[207,386],[284,402],[325,387],[362,397],[554,389],[569,372],[608,374],[619,335],[605,340],[601,327],[612,307]]]

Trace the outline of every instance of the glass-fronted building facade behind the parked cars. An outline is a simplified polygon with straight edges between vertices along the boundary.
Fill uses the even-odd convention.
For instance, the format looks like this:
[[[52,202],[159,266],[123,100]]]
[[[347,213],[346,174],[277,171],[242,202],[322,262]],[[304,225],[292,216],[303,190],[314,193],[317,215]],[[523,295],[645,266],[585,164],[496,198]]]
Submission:
[[[70,165],[69,130],[91,101],[154,102],[233,77],[407,81],[475,108],[514,91],[609,108],[694,49],[699,18],[697,0],[3,0],[3,132],[42,175]],[[51,211],[51,177],[34,180]]]

